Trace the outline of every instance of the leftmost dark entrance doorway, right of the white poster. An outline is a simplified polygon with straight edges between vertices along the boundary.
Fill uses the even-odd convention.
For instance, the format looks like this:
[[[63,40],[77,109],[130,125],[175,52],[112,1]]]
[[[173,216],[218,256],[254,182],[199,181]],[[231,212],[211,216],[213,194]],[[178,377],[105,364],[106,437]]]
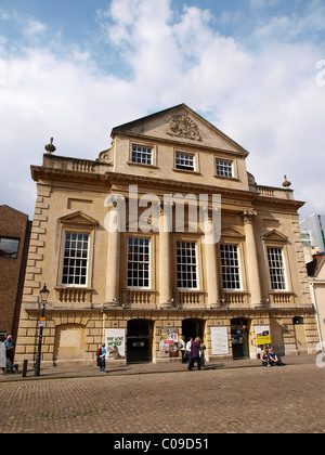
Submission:
[[[128,322],[127,361],[128,363],[152,362],[154,323],[147,320]]]

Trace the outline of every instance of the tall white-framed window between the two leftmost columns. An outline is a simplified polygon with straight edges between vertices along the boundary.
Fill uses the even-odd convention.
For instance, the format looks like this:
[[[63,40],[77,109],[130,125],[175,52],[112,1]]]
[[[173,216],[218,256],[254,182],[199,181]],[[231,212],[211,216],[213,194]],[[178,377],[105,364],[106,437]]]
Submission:
[[[143,247],[147,247],[147,251],[139,251],[135,252],[134,247],[135,245],[135,240],[136,243],[139,243],[138,246],[140,246],[141,248]],[[145,240],[147,242],[147,245],[144,245]],[[130,247],[132,248],[132,250],[130,250]],[[151,238],[150,237],[128,237],[128,243],[127,243],[127,288],[128,289],[150,289],[151,288]],[[130,260],[130,255],[131,255],[131,260]],[[138,255],[138,260],[136,259],[136,255]],[[141,257],[143,256],[143,260],[141,261]],[[145,257],[147,257],[147,259],[145,259]],[[140,260],[139,260],[140,259]],[[129,265],[132,265],[129,268]],[[135,265],[135,266],[133,266]],[[139,272],[141,272],[141,266],[142,266],[142,271],[143,271],[143,276],[140,277],[139,276]],[[145,277],[145,269],[147,268],[147,277]],[[138,272],[138,275],[135,274]],[[129,276],[129,274],[132,274],[132,276]],[[131,282],[129,282],[129,280],[131,280]],[[135,285],[135,280],[138,281],[138,284]],[[139,285],[140,281],[147,281],[147,286],[143,285]],[[131,284],[130,284],[131,283]]]

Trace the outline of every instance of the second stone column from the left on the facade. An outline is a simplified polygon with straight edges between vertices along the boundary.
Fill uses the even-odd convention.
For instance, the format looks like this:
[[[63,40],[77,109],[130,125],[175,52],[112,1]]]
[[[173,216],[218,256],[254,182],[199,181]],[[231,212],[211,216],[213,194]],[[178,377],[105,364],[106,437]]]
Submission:
[[[165,211],[166,209],[166,211]],[[164,204],[159,219],[159,307],[172,308],[171,285],[171,204]]]

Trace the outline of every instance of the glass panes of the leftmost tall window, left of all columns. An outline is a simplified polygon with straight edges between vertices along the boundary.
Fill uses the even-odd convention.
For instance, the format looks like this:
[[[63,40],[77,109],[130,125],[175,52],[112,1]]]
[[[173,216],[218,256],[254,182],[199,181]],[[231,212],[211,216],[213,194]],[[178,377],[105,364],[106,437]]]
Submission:
[[[62,270],[63,285],[87,285],[88,246],[89,234],[66,233]]]

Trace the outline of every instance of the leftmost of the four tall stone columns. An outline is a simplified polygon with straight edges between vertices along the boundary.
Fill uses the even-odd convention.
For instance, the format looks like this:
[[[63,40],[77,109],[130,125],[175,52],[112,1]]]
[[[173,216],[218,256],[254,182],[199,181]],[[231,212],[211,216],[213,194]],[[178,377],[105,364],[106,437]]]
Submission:
[[[116,206],[110,208],[106,276],[106,303],[109,307],[120,306],[120,231],[117,223],[118,210]]]

